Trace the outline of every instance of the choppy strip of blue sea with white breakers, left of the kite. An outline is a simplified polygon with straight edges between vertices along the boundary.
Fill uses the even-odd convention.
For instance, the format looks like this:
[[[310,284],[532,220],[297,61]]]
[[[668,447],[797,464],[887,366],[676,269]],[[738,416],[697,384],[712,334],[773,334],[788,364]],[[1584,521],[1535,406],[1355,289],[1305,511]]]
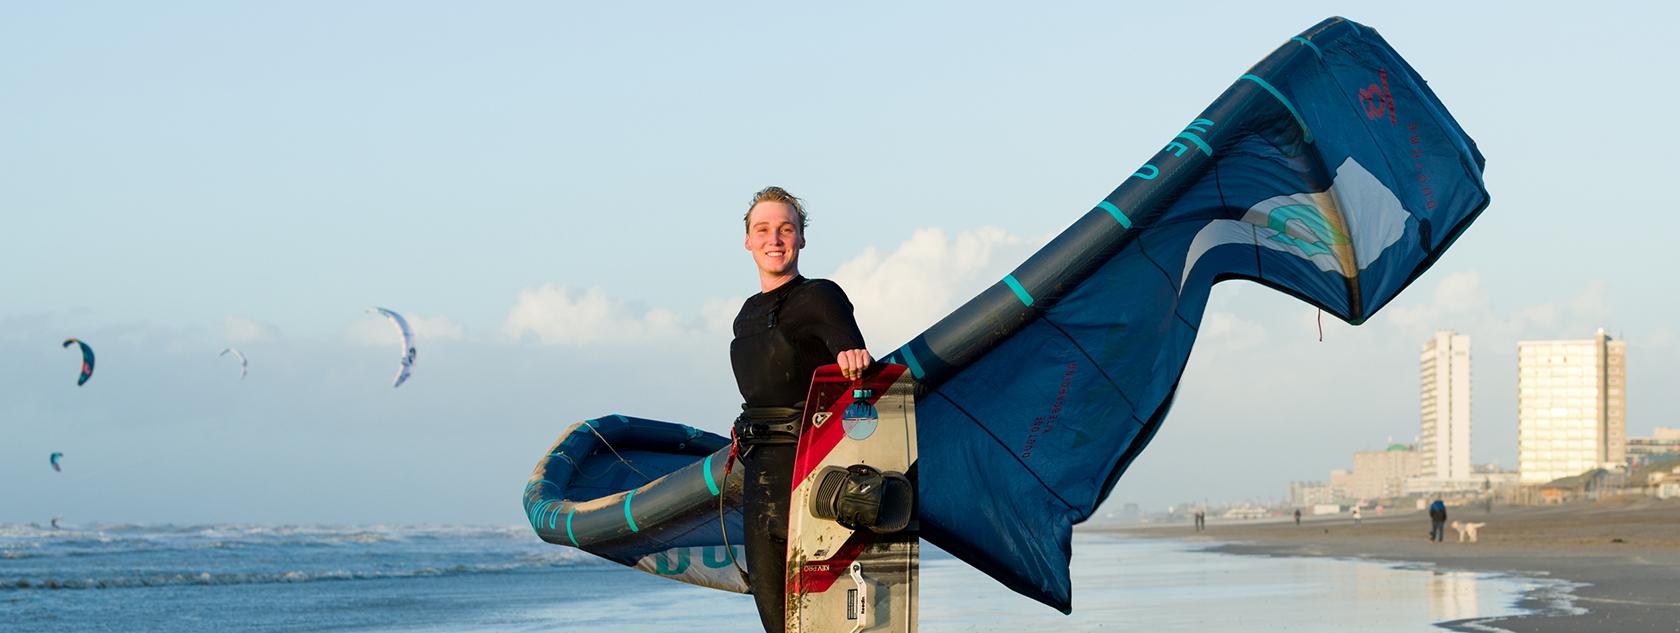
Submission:
[[[365,581],[606,564],[524,526],[0,524],[0,593]]]

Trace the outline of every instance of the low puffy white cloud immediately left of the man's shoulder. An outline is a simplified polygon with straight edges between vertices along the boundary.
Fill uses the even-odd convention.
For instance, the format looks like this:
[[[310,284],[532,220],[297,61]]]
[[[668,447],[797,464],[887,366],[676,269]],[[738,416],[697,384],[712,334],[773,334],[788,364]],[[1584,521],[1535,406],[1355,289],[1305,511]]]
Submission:
[[[707,327],[716,326],[712,312],[717,307],[709,302]],[[502,332],[514,339],[534,336],[544,344],[590,344],[679,336],[682,326],[672,311],[642,311],[598,287],[576,290],[544,284],[519,290]]]

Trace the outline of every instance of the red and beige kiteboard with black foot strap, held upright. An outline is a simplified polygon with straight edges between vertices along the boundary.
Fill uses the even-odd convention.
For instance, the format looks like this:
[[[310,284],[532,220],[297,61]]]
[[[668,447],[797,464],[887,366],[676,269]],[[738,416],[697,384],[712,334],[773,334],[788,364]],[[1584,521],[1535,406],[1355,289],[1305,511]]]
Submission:
[[[788,514],[790,633],[916,631],[916,381],[877,363],[816,369]],[[850,526],[850,527],[848,527]]]

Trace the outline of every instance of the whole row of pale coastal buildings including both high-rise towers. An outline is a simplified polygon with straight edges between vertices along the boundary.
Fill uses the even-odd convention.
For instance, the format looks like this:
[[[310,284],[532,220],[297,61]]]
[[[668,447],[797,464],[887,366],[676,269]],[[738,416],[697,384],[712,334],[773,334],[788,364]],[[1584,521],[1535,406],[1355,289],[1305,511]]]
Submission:
[[[1436,332],[1418,358],[1418,442],[1354,453],[1352,470],[1290,484],[1295,507],[1403,497],[1554,500],[1547,487],[1599,484],[1680,460],[1680,428],[1628,437],[1626,344],[1599,329],[1591,339],[1517,343],[1517,470],[1470,462],[1470,336]],[[1668,468],[1658,468],[1667,472]],[[1667,489],[1656,475],[1651,494]],[[1588,485],[1588,484],[1583,484]]]

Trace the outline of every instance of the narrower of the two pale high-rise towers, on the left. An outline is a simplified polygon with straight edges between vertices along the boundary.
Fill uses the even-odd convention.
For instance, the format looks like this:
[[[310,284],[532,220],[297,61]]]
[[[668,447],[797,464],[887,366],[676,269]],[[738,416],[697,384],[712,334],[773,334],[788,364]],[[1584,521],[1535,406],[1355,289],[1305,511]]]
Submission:
[[[1420,479],[1470,479],[1470,337],[1440,331],[1418,356]]]

